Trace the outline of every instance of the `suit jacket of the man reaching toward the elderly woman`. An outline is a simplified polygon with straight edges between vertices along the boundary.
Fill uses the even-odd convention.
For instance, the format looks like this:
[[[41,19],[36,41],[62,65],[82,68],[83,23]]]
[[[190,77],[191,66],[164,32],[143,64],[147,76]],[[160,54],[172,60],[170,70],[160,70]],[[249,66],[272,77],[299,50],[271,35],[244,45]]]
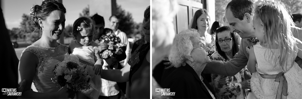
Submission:
[[[302,29],[292,26],[292,34],[295,38],[302,41]],[[230,62],[210,62],[204,68],[204,73],[220,74],[224,76],[234,76],[236,73],[238,73],[246,66],[249,60],[249,54],[246,52],[246,46],[252,46],[256,44],[247,41],[247,39],[249,38],[243,38],[241,40],[240,49]],[[302,59],[297,57],[295,61],[302,68]]]

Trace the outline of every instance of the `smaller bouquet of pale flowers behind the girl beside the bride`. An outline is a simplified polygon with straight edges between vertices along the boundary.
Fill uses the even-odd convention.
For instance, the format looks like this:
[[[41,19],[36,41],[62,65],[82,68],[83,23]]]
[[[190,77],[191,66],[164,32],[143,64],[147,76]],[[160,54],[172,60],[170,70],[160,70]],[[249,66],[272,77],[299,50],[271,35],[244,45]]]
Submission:
[[[104,59],[116,58],[126,50],[126,44],[120,43],[120,38],[113,35],[111,32],[101,36],[101,42],[108,44],[108,49],[101,53]]]

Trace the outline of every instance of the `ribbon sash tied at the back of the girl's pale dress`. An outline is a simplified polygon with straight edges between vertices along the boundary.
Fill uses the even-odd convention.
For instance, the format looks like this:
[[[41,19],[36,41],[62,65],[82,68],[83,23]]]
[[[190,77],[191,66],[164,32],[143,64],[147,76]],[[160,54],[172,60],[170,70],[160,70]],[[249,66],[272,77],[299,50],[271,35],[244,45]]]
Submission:
[[[260,74],[260,76],[262,78],[275,79],[275,82],[279,82],[276,99],[286,99],[286,96],[288,95],[288,83],[284,76],[284,72],[280,72],[276,75]]]

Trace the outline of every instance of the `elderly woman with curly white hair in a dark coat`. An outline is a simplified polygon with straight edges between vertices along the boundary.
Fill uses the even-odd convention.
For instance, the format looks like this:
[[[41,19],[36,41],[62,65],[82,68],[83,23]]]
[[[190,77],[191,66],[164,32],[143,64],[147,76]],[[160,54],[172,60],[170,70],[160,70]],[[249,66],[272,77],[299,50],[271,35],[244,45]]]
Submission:
[[[175,92],[172,98],[215,99],[213,88],[201,74],[210,58],[209,48],[199,37],[197,30],[188,29],[178,33],[173,41],[169,60],[176,69],[161,83],[163,88]]]

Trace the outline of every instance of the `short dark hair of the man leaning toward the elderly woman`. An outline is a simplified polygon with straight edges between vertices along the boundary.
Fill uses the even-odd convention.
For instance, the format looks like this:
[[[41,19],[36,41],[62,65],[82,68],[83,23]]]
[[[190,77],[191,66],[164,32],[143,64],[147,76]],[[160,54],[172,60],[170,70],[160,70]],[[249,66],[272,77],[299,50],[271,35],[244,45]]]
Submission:
[[[254,0],[232,0],[227,4],[226,9],[230,9],[234,17],[243,20],[244,13],[249,13],[253,16],[254,2]]]

